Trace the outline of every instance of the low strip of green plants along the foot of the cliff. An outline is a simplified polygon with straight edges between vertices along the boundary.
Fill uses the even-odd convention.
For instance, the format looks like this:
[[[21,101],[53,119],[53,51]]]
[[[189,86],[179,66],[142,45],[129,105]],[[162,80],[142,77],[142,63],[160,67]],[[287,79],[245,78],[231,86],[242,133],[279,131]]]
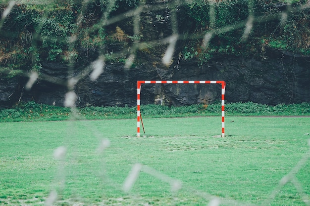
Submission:
[[[308,116],[310,104],[278,104],[262,105],[253,102],[225,104],[226,116]],[[221,116],[221,104],[194,104],[190,106],[142,105],[143,117],[193,117]],[[102,120],[102,119],[134,119],[137,116],[136,107],[85,107],[70,108],[37,104],[33,101],[20,104],[15,108],[0,110],[0,122],[28,121],[59,121],[69,119]]]

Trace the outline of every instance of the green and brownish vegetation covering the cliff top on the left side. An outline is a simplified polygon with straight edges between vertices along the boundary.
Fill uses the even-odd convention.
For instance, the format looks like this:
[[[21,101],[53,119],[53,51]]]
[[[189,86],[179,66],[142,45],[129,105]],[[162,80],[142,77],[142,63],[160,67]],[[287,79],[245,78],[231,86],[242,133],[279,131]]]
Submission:
[[[0,2],[0,11],[6,9],[8,2]],[[107,40],[115,41],[113,35],[107,37],[102,26],[104,19],[117,15],[117,9],[124,12],[138,3],[137,0],[18,1],[0,22],[0,75],[11,78],[23,76],[20,71],[40,73],[44,61],[70,65],[81,60],[80,52],[84,49],[103,49]]]

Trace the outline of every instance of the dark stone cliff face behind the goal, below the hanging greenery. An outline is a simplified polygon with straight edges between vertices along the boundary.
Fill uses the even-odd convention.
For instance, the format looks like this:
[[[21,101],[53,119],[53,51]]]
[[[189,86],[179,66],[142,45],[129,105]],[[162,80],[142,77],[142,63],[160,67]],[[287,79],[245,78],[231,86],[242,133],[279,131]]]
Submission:
[[[269,105],[310,102],[310,58],[274,50],[267,50],[265,56],[263,59],[218,56],[204,66],[181,60],[168,68],[159,58],[151,59],[148,55],[140,56],[140,63],[130,69],[123,63],[107,63],[97,80],[91,81],[89,74],[78,78],[73,89],[77,94],[76,104],[134,106],[138,80],[224,80],[227,102]],[[10,107],[18,101],[30,100],[63,106],[70,79],[68,71],[68,67],[58,63],[43,64],[42,79],[30,91],[24,89],[27,78],[1,79],[0,106]],[[78,72],[72,72],[71,77],[75,74]],[[142,104],[189,105],[219,100],[220,85],[216,84],[142,85]]]

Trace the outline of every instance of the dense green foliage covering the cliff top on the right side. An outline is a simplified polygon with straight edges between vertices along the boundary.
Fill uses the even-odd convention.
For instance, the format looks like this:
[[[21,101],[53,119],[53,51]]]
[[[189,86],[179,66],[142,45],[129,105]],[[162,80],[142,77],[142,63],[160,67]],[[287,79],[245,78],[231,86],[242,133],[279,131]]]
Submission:
[[[259,55],[264,46],[309,55],[310,8],[303,6],[307,3],[306,0],[233,0],[197,1],[185,6],[187,25],[195,24],[198,33],[202,36],[208,33],[212,38],[207,48],[200,46],[205,41],[202,38],[185,42],[183,57],[207,62],[215,53]],[[250,17],[253,28],[247,36],[245,25],[252,21]]]

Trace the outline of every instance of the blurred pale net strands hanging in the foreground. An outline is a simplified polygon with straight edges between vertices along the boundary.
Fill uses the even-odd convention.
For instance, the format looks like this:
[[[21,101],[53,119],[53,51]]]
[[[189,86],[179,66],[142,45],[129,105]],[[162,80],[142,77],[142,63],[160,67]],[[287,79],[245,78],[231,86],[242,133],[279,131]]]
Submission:
[[[125,13],[119,13],[113,15],[111,14],[113,12],[113,8],[115,6],[116,1],[115,0],[109,0],[109,1],[104,1],[106,5],[106,9],[103,11],[103,15],[100,16],[100,18],[97,20],[99,23],[94,24],[92,27],[90,27],[88,30],[83,30],[81,31],[79,25],[86,24],[85,23],[85,16],[91,15],[86,12],[86,8],[88,5],[93,3],[92,0],[84,0],[81,1],[81,7],[80,9],[77,9],[76,11],[76,27],[73,28],[73,31],[71,32],[70,36],[66,39],[66,43],[68,45],[68,68],[69,68],[69,76],[66,79],[65,82],[54,82],[54,83],[59,83],[59,84],[65,84],[66,87],[68,88],[68,91],[65,95],[65,101],[64,105],[65,107],[70,107],[71,108],[71,113],[73,120],[80,120],[83,119],[82,116],[78,113],[76,110],[76,102],[78,100],[78,96],[75,92],[75,87],[77,82],[85,77],[89,77],[89,81],[96,81],[100,75],[103,74],[103,70],[105,65],[110,61],[111,58],[117,58],[117,57],[126,57],[124,61],[124,68],[130,70],[132,65],[134,64],[136,58],[137,58],[137,51],[140,49],[146,49],[147,47],[150,47],[152,45],[165,45],[166,49],[162,52],[162,64],[166,66],[170,66],[173,62],[174,56],[178,56],[175,54],[175,50],[177,47],[177,42],[182,41],[182,40],[195,40],[197,38],[203,39],[202,41],[202,48],[207,49],[209,42],[214,38],[216,35],[220,34],[225,34],[228,32],[234,32],[237,30],[242,30],[242,41],[247,41],[249,37],[251,36],[251,33],[253,32],[253,25],[254,24],[262,24],[264,22],[272,21],[272,20],[279,20],[279,25],[285,25],[285,22],[287,21],[288,14],[290,12],[299,12],[303,11],[307,8],[309,8],[310,3],[306,2],[302,4],[301,6],[298,7],[291,7],[287,6],[287,8],[281,12],[277,12],[274,14],[269,14],[269,15],[257,15],[254,14],[254,2],[249,0],[247,1],[249,12],[248,12],[248,17],[241,22],[237,22],[231,25],[225,25],[223,27],[216,27],[215,26],[215,21],[216,21],[216,12],[215,12],[215,7],[216,6],[221,6],[221,4],[225,4],[225,1],[202,1],[206,2],[209,5],[209,13],[207,14],[210,24],[207,31],[204,31],[199,37],[197,37],[197,34],[181,34],[179,32],[179,27],[177,20],[177,11],[180,6],[187,5],[187,4],[194,4],[195,2],[193,0],[185,0],[185,1],[180,1],[180,0],[166,0],[166,1],[154,1],[157,3],[148,3],[146,1],[137,1],[137,5],[135,8],[132,10],[126,11]],[[2,28],[3,24],[5,23],[5,20],[7,16],[10,15],[10,12],[12,11],[14,6],[20,5],[20,4],[29,4],[29,5],[34,5],[35,4],[46,4],[49,5],[50,3],[53,3],[53,1],[14,1],[10,0],[7,2],[7,7],[3,10],[2,15],[1,15],[1,21],[0,21],[0,29]],[[70,3],[68,1],[68,3]],[[103,1],[96,1],[96,3],[103,3]],[[290,5],[290,4],[289,4]],[[167,16],[168,21],[170,21],[171,24],[171,31],[170,35],[166,38],[162,38],[160,40],[147,40],[143,41],[143,38],[140,37],[141,35],[141,19],[143,18],[144,12],[155,12],[158,10],[166,9],[169,11],[169,16]],[[39,24],[39,27],[43,29],[45,26],[47,26],[45,21],[48,21],[50,16],[48,16],[48,12],[42,11],[42,22]],[[91,64],[87,65],[82,71],[79,71],[78,73],[75,73],[74,71],[74,65],[76,60],[76,50],[75,50],[75,43],[78,41],[79,38],[89,38],[91,34],[93,33],[98,33],[100,34],[102,28],[109,27],[110,25],[115,24],[116,22],[121,22],[123,19],[126,18],[132,18],[133,21],[133,26],[132,26],[132,36],[131,36],[131,45],[128,46],[127,48],[124,48],[122,51],[119,52],[104,52],[104,49],[101,50],[101,52],[98,54],[98,57],[96,58],[95,61],[93,61]],[[158,15],[158,19],[161,18],[166,18],[163,16]],[[162,19],[162,21],[166,21],[166,19]],[[50,25],[52,26],[52,25]],[[122,38],[128,38],[124,36],[120,28],[118,29],[117,36],[115,38],[122,39]],[[40,31],[40,30],[39,30]],[[84,33],[84,34],[82,34]],[[60,33],[59,33],[60,34]],[[51,34],[49,38],[46,41],[53,41],[55,45],[57,44],[57,41],[62,41],[60,40],[61,38],[58,38],[57,35],[59,35],[57,32]],[[40,76],[40,62],[37,59],[37,54],[36,54],[36,44],[35,41],[39,40],[40,35],[38,33],[31,33],[31,34],[24,34],[24,41],[31,41],[33,42],[33,68],[29,73],[27,74],[29,77],[28,82],[24,85],[25,89],[30,90],[32,86],[39,81],[40,79],[45,79],[45,80],[52,80],[52,76]],[[44,40],[43,40],[44,41]],[[94,41],[94,40],[92,40]],[[99,39],[99,41],[101,41]],[[100,42],[97,43],[97,46],[100,44]],[[93,42],[89,42],[88,45],[86,45],[91,49],[92,47],[95,46]],[[104,44],[100,45],[102,48],[104,48]],[[57,51],[53,51],[56,52]],[[52,58],[52,56],[50,56]],[[73,128],[73,132],[72,132]],[[70,125],[68,126],[68,134],[66,136],[66,141],[71,142],[74,141],[74,129],[77,129],[77,126],[75,125],[74,122],[71,122]],[[110,141],[108,137],[105,137],[104,134],[100,131],[98,131],[95,128],[89,128],[90,132],[93,133],[94,136],[96,136],[100,141],[100,144],[98,145],[97,148],[94,148],[98,151],[99,154],[104,153],[106,150],[109,149],[110,146]],[[310,142],[309,142],[310,146]],[[53,158],[57,161],[59,161],[58,169],[55,174],[54,181],[52,183],[52,189],[49,197],[45,200],[45,205],[46,206],[52,206],[55,203],[59,201],[59,197],[61,197],[61,191],[63,188],[66,187],[66,175],[65,175],[65,165],[66,165],[66,155],[69,152],[68,150],[72,150],[72,148],[67,148],[66,145],[60,145],[58,148],[55,148]],[[71,151],[72,152],[72,151]],[[77,157],[76,157],[77,158]],[[306,164],[309,163],[310,160],[310,149],[308,152],[304,154],[304,156],[301,158],[299,163],[295,165],[295,167],[285,176],[283,176],[282,180],[279,181],[277,187],[270,193],[270,196],[267,200],[263,202],[262,205],[269,205],[272,200],[279,195],[281,189],[288,183],[292,183],[296,190],[298,191],[298,194],[302,197],[305,205],[310,206],[310,198],[309,195],[306,194],[304,191],[303,187],[301,186],[299,179],[297,178],[296,174],[305,166]],[[153,178],[158,179],[163,182],[163,184],[169,184],[170,185],[170,192],[176,193],[178,192],[181,188],[184,190],[187,190],[191,193],[195,193],[196,195],[206,199],[208,206],[219,206],[219,205],[248,205],[247,203],[243,203],[241,201],[233,200],[230,198],[219,198],[215,197],[207,192],[197,190],[195,188],[184,188],[184,183],[181,182],[178,179],[174,179],[172,177],[167,176],[164,173],[159,172],[156,168],[153,168],[152,166],[149,165],[142,165],[141,163],[136,163],[132,166],[131,170],[128,171],[128,176],[124,179],[122,185],[119,185],[118,183],[113,183],[115,187],[120,188],[126,193],[131,194],[131,190],[134,187],[135,183],[139,180],[139,175],[141,173],[146,173],[148,175],[151,175]],[[81,188],[83,189],[83,188]],[[133,195],[133,199],[134,194]],[[83,202],[83,201],[81,201]],[[82,203],[81,203],[82,204]],[[104,205],[105,203],[100,203],[98,205]],[[79,204],[76,204],[79,205]]]

